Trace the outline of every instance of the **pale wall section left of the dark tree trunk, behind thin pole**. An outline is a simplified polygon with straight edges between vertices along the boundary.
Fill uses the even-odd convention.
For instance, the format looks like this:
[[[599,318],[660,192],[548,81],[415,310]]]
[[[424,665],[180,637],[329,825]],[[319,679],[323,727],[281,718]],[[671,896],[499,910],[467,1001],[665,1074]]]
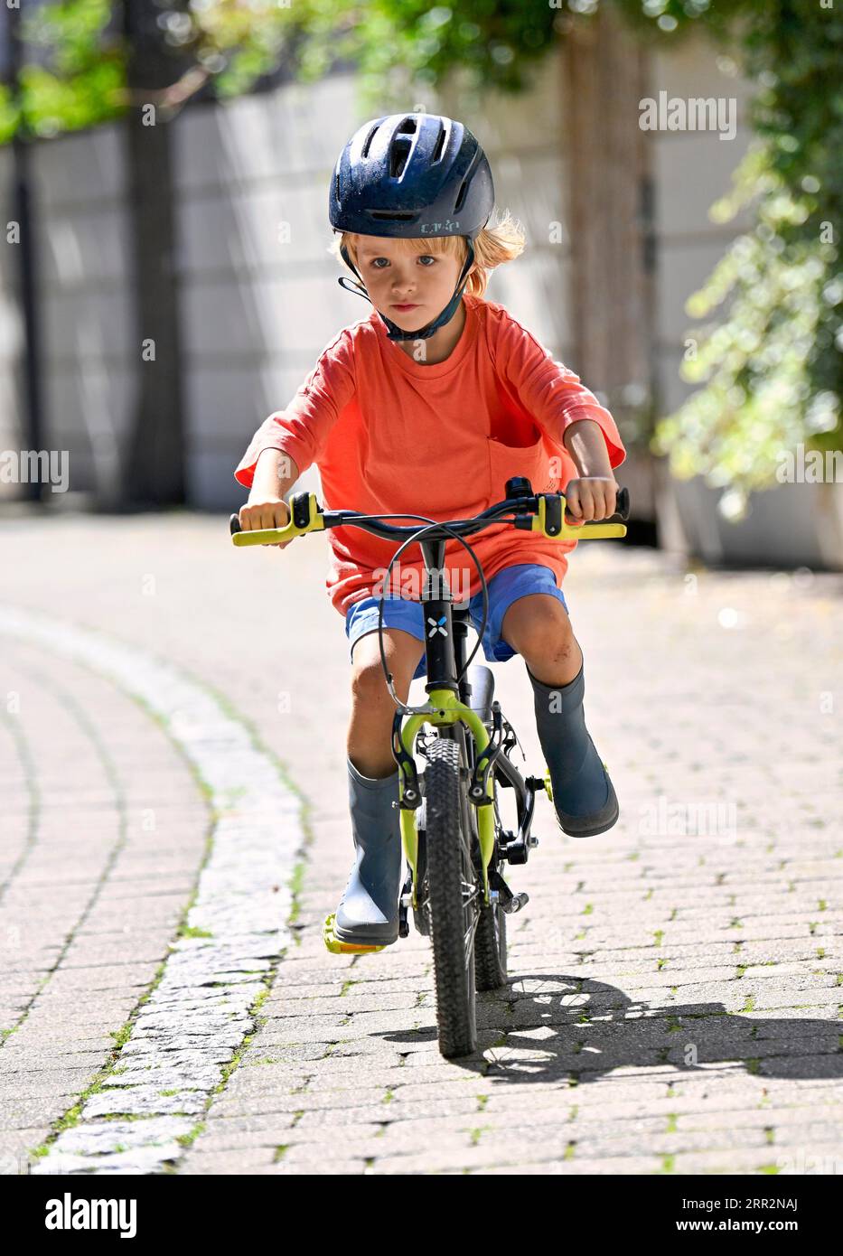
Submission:
[[[88,491],[97,477],[116,475],[138,362],[122,148],[117,128],[103,127],[39,143],[33,156],[46,438],[50,448],[68,451],[70,489]],[[0,161],[9,190],[11,154],[0,153]],[[23,322],[13,249],[5,245],[0,270],[0,319],[9,328],[0,337],[4,448],[20,448],[24,441]]]

